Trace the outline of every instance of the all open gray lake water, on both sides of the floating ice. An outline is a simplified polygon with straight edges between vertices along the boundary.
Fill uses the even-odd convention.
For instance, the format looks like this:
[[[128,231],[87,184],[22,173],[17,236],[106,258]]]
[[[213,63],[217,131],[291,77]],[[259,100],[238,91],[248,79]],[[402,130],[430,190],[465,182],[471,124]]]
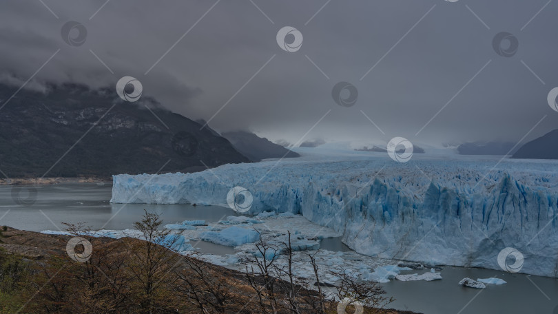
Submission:
[[[226,216],[238,216],[228,208],[192,205],[110,204],[110,183],[68,183],[59,185],[0,186],[0,225],[28,231],[63,229],[61,222],[87,222],[93,229],[132,229],[141,220],[143,209],[160,214],[163,222],[206,220],[217,222]],[[30,204],[23,204],[34,200]],[[194,244],[194,243],[192,243]],[[229,247],[199,242],[203,253],[234,253]],[[349,251],[339,238],[324,239],[322,249]],[[406,271],[404,273],[424,273]],[[459,286],[462,278],[502,278],[500,286],[488,285],[477,290]],[[538,276],[506,273],[488,269],[444,267],[442,280],[433,282],[399,282],[382,284],[386,295],[395,297],[391,308],[420,313],[473,314],[522,313],[558,314],[558,280]]]

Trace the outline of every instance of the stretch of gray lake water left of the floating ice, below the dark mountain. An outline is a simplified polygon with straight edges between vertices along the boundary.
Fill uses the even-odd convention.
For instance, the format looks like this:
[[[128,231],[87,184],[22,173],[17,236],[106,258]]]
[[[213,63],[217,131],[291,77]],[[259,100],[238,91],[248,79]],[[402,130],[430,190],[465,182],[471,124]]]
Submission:
[[[37,190],[34,202],[28,198],[32,196],[28,187]],[[144,209],[158,213],[164,224],[183,220],[216,222],[226,216],[238,216],[232,209],[218,206],[110,204],[110,183],[21,186],[20,200],[14,200],[12,188],[0,186],[0,217],[5,215],[0,224],[28,231],[63,229],[61,222],[87,222],[92,229],[132,229]]]

